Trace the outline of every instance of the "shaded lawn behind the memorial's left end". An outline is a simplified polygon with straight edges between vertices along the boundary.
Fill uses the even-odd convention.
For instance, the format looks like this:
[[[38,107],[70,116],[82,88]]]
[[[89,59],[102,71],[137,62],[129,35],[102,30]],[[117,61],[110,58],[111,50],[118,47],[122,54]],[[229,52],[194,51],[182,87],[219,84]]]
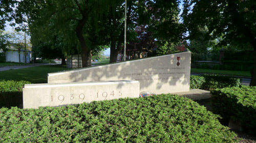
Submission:
[[[25,80],[31,83],[47,83],[47,74],[57,71],[69,70],[63,65],[42,65],[20,69],[0,71],[1,80]]]

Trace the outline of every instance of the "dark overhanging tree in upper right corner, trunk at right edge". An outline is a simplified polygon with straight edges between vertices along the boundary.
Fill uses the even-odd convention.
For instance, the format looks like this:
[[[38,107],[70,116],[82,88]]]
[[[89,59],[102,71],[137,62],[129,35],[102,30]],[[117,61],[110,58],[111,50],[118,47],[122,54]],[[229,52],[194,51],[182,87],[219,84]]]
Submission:
[[[253,47],[253,71],[250,86],[256,86],[256,3],[254,1],[185,1],[183,20],[190,33],[207,27],[209,39],[223,36],[221,43],[250,43]]]

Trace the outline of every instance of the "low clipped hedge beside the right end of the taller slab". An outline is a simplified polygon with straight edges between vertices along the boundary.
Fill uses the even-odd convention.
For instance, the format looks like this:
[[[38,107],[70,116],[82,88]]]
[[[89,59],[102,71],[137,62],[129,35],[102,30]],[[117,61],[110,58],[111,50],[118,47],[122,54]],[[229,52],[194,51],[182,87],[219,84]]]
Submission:
[[[241,79],[218,75],[190,76],[190,89],[211,90],[232,86],[240,87]]]

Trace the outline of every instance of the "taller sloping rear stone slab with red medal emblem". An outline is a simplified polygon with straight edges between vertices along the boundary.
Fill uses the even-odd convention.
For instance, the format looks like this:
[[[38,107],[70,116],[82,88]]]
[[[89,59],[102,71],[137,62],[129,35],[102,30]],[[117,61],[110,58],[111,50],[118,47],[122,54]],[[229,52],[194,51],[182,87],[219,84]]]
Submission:
[[[137,80],[140,92],[189,91],[190,52],[48,74],[48,83]]]

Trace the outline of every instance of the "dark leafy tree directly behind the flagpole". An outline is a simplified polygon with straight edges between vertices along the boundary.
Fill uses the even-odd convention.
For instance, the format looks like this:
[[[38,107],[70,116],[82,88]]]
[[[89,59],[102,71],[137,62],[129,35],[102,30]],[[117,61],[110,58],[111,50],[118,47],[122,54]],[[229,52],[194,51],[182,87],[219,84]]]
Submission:
[[[127,42],[136,38],[135,33],[135,18],[137,17],[136,12],[137,1],[127,2],[127,32],[126,38]],[[104,22],[102,27],[104,27],[105,32],[108,37],[107,41],[110,44],[110,63],[116,62],[117,55],[123,48],[124,41],[124,1],[119,1],[117,5],[109,7],[109,9],[104,13]]]

